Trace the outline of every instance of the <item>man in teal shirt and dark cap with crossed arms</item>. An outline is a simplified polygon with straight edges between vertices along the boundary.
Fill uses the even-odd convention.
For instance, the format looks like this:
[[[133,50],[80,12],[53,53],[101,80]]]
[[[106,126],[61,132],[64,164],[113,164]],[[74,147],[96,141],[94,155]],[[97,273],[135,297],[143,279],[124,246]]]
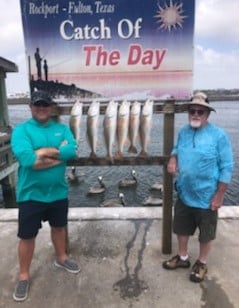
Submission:
[[[28,296],[30,265],[35,238],[42,221],[51,226],[56,252],[55,266],[78,273],[78,264],[66,254],[68,185],[66,162],[76,157],[77,145],[70,129],[51,118],[51,97],[45,91],[33,92],[32,118],[18,125],[11,146],[19,162],[17,202],[19,205],[18,246],[20,273],[13,298]]]

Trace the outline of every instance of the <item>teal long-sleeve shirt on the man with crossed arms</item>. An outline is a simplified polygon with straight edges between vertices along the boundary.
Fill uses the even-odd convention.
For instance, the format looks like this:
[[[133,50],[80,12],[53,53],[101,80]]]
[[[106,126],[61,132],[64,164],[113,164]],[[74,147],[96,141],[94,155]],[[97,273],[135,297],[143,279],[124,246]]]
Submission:
[[[67,144],[62,145],[64,140]],[[67,198],[66,161],[76,157],[77,145],[65,124],[50,120],[43,125],[32,118],[13,130],[11,146],[19,162],[17,202],[52,202]],[[62,163],[47,169],[34,170],[37,159],[35,151],[45,147],[57,148]]]

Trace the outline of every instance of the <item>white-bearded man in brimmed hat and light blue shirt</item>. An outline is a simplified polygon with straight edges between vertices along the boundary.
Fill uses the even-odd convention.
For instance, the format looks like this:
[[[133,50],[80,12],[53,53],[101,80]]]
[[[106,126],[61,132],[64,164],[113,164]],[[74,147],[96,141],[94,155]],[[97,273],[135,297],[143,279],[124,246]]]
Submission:
[[[178,135],[168,162],[176,177],[178,199],[174,208],[173,231],[178,254],[163,262],[165,269],[190,267],[188,241],[199,229],[199,256],[190,280],[201,282],[207,273],[207,258],[216,237],[217,210],[232,176],[233,154],[225,131],[208,122],[211,111],[207,96],[196,93],[189,103],[189,124]]]

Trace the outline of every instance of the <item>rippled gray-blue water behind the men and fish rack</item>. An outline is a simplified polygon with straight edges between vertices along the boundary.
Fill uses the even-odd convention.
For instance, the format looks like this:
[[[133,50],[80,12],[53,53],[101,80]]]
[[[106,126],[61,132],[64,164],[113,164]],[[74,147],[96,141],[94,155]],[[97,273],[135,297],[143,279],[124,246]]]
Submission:
[[[238,119],[239,119],[239,102],[225,101],[213,102],[212,106],[217,110],[217,113],[211,113],[210,122],[223,127],[231,141],[234,151],[235,168],[233,178],[229,184],[225,194],[225,205],[239,205],[239,138],[238,138]],[[16,124],[26,120],[31,116],[27,105],[9,105],[10,123],[14,127]],[[68,124],[69,116],[62,116],[61,121]],[[103,115],[100,116],[99,124],[99,143],[97,154],[105,156],[105,146],[103,142]],[[187,114],[176,114],[175,116],[175,138],[177,132],[185,123],[187,123]],[[162,155],[163,141],[163,115],[153,115],[153,127],[151,133],[151,141],[148,148],[150,155]],[[138,147],[140,149],[140,146]],[[88,156],[90,149],[86,140],[86,116],[82,117],[81,125],[81,141],[79,154],[80,156]],[[126,151],[125,151],[126,153]],[[125,154],[128,155],[128,154]],[[116,198],[120,191],[125,194],[127,206],[142,206],[143,200],[152,195],[150,191],[151,185],[155,182],[162,182],[162,166],[135,166],[137,173],[138,185],[135,188],[119,189],[118,181],[130,175],[131,166],[83,166],[77,167],[79,175],[78,183],[69,185],[70,193],[69,200],[71,207],[95,207],[109,198]],[[68,168],[67,172],[70,172]],[[97,177],[103,176],[106,184],[106,192],[102,195],[87,196],[87,191],[90,186],[97,183]],[[157,193],[153,193],[156,194]],[[2,196],[0,192],[0,206]]]

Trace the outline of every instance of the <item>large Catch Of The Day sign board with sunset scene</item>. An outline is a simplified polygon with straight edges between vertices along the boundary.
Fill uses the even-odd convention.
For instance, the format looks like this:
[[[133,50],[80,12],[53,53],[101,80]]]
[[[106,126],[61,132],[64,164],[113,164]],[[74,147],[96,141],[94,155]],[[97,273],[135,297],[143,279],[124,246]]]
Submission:
[[[31,90],[184,99],[194,0],[21,0]]]

